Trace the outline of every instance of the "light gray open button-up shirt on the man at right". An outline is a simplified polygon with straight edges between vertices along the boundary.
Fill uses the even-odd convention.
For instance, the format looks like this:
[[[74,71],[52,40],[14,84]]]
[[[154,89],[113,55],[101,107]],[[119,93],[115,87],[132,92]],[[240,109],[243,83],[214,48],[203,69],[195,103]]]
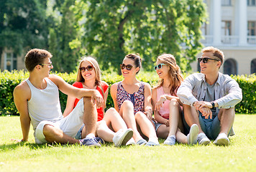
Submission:
[[[193,102],[204,101],[206,95],[206,78],[202,73],[195,73],[186,77],[178,88],[177,95],[181,102],[186,105],[193,105]],[[218,80],[214,84],[214,102],[220,108],[234,108],[242,100],[242,90],[237,82],[219,72]],[[216,112],[217,113],[217,112]]]

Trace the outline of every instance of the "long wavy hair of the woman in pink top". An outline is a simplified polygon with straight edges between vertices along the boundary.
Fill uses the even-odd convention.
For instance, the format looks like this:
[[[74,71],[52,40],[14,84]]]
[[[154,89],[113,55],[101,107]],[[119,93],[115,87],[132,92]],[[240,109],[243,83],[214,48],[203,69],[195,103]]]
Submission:
[[[180,87],[181,82],[183,82],[183,75],[181,74],[180,67],[176,64],[175,57],[172,54],[162,54],[157,57],[161,63],[168,65],[169,72],[168,75],[170,77],[170,95],[177,96],[176,92],[178,87]],[[158,81],[157,87],[163,86],[163,79]]]

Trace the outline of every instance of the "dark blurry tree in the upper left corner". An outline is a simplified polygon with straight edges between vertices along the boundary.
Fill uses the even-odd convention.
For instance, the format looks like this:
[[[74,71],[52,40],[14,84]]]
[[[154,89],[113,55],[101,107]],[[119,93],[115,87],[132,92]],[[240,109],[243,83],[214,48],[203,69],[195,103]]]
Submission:
[[[47,47],[46,3],[42,0],[1,0],[0,54],[4,47],[17,54]]]

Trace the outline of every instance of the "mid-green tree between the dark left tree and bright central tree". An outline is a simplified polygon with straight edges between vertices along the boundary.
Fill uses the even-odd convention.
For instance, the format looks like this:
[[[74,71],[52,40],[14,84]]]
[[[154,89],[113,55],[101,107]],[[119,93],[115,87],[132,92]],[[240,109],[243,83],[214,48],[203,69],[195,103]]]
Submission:
[[[57,1],[53,11],[59,15],[50,28],[49,50],[52,52],[52,64],[58,72],[72,72],[76,69],[81,54],[78,48],[70,48],[70,42],[77,37],[76,19],[73,13],[75,0]],[[52,15],[53,16],[53,15]],[[60,22],[58,22],[60,20]]]

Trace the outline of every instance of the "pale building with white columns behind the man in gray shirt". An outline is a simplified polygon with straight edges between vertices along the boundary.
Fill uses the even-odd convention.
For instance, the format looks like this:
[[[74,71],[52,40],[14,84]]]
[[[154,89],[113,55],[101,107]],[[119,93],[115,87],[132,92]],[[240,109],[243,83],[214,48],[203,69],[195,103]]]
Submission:
[[[224,52],[220,71],[228,75],[256,72],[256,0],[205,0],[209,21],[203,25],[201,41]],[[198,54],[201,57],[201,54]],[[200,72],[197,62],[193,72]]]

